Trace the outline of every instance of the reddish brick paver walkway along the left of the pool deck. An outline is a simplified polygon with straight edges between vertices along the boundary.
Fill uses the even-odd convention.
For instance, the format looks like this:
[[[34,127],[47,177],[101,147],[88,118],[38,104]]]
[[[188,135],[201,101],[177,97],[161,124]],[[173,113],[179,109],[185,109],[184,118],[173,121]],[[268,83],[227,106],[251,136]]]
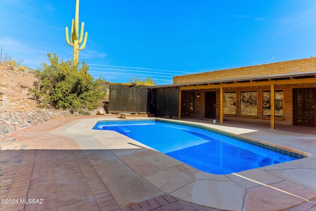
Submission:
[[[167,194],[119,208],[76,141],[49,133],[78,118],[82,117],[58,118],[8,134],[28,144],[28,148],[21,151],[23,159],[6,197],[18,201],[0,205],[1,210],[215,211]],[[30,203],[32,199],[35,201]]]

